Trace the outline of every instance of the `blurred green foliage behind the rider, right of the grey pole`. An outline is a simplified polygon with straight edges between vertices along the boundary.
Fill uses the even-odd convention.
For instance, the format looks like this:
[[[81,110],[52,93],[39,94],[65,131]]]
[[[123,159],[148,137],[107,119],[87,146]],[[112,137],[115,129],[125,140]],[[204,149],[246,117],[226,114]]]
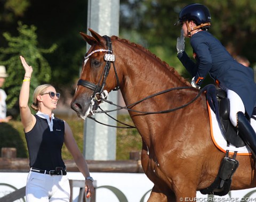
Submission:
[[[120,7],[120,34],[140,43],[190,78],[176,57],[177,37],[181,27],[174,26],[180,10],[191,3],[206,5],[211,13],[210,32],[228,49],[231,55],[243,55],[252,66],[256,62],[256,1],[255,0],[123,0]],[[186,52],[193,51],[186,38]]]

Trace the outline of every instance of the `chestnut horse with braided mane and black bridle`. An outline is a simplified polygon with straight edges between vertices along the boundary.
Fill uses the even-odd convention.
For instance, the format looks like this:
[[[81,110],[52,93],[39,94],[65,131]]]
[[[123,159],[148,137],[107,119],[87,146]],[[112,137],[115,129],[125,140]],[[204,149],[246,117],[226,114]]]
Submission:
[[[154,183],[148,201],[193,199],[197,190],[209,187],[214,181],[225,156],[211,139],[205,94],[170,113],[139,113],[180,107],[199,91],[190,88],[190,83],[177,71],[142,46],[89,30],[92,36],[81,32],[91,48],[85,56],[71,107],[85,119],[97,110],[102,90],[110,92],[119,87],[125,104],[131,105],[166,89],[188,87],[131,105],[134,111],[129,114],[143,142],[143,171]],[[236,159],[239,167],[233,175],[231,190],[255,187],[251,157]]]

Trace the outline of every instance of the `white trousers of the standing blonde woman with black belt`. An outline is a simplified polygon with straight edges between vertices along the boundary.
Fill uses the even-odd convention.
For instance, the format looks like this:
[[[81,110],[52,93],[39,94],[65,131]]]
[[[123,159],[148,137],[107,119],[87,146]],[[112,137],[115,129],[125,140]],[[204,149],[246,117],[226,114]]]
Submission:
[[[70,187],[67,175],[29,172],[26,184],[27,202],[69,202]]]

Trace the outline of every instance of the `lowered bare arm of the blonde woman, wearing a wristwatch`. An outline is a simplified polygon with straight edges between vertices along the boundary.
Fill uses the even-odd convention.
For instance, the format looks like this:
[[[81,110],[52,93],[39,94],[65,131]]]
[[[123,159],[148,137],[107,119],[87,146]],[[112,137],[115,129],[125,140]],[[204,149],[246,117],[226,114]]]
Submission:
[[[86,178],[90,176],[88,165],[83,155],[81,154],[80,150],[78,149],[76,140],[74,139],[73,133],[68,123],[66,121],[64,123],[65,123],[65,137],[64,137],[65,145],[68,148],[71,155],[73,156],[79,171]],[[92,181],[85,180],[85,192],[87,193],[86,197],[92,196],[93,191],[94,191],[94,187],[93,187]]]

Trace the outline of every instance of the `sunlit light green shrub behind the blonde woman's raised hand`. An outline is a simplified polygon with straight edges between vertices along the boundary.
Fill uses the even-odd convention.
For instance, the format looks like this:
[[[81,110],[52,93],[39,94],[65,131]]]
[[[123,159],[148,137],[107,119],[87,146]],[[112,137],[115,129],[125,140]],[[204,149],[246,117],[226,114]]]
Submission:
[[[12,108],[18,103],[19,91],[25,73],[20,62],[19,55],[26,58],[28,64],[33,66],[33,78],[30,85],[30,100],[32,103],[33,92],[35,87],[43,82],[51,80],[51,68],[49,63],[43,57],[45,53],[52,53],[56,49],[53,44],[49,49],[41,49],[38,47],[36,27],[27,26],[18,23],[18,37],[12,37],[10,33],[3,33],[4,38],[8,43],[7,48],[0,48],[0,62],[6,66],[9,77],[6,78],[4,89],[7,94],[7,107]]]

